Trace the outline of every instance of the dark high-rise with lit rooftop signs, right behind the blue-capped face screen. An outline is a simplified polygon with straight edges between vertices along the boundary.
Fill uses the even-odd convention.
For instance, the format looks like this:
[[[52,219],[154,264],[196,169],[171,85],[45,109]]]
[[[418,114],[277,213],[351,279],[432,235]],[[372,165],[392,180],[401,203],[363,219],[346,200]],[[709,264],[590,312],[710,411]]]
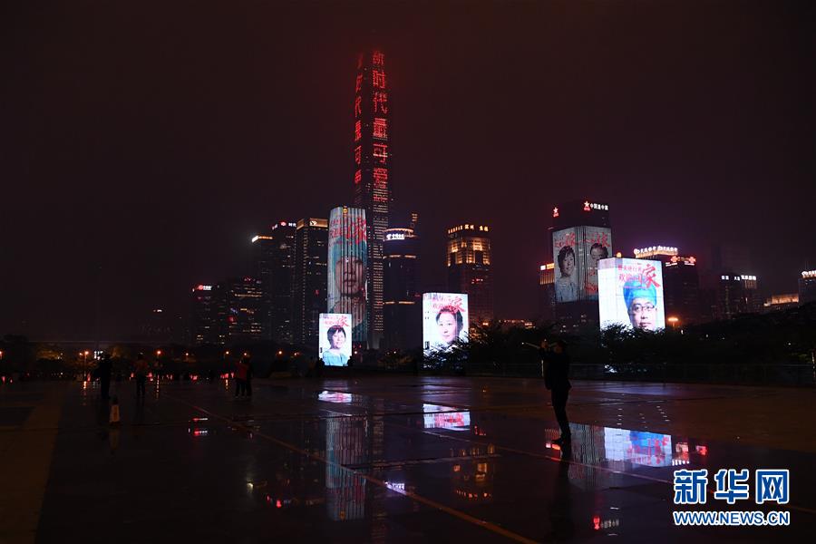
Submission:
[[[642,255],[642,253],[641,253]],[[700,301],[700,275],[697,273],[697,259],[672,255],[663,260],[663,296],[666,318],[676,317],[680,324],[699,323],[702,320]],[[639,257],[636,258],[647,258]]]

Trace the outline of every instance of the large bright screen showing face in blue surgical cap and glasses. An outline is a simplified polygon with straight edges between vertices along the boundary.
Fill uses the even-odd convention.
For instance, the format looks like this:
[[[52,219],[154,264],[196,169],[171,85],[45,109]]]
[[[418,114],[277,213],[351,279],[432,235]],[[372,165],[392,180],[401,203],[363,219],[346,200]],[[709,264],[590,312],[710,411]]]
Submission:
[[[598,263],[601,328],[624,325],[647,331],[665,328],[663,268],[659,261],[607,258]]]

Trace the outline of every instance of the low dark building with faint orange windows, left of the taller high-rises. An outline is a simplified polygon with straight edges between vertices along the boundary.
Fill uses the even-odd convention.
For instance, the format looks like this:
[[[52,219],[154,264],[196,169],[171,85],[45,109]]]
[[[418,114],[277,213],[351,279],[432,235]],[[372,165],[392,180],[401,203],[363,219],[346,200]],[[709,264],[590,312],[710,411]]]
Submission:
[[[255,342],[263,333],[263,284],[254,277],[224,282],[227,342]]]

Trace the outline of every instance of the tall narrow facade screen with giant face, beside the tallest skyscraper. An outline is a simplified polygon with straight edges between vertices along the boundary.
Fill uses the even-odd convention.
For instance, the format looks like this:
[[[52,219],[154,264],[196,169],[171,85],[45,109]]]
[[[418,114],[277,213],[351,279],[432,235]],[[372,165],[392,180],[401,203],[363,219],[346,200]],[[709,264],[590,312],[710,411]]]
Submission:
[[[368,339],[365,282],[368,242],[365,210],[345,206],[332,209],[328,232],[328,292],[330,314],[351,314],[355,342]]]

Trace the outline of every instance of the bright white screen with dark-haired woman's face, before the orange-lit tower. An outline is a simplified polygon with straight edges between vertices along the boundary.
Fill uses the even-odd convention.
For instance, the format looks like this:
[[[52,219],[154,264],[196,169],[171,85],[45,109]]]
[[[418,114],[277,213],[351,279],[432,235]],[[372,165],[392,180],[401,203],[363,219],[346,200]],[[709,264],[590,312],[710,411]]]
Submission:
[[[463,293],[423,294],[423,350],[432,355],[468,340],[468,296]]]

